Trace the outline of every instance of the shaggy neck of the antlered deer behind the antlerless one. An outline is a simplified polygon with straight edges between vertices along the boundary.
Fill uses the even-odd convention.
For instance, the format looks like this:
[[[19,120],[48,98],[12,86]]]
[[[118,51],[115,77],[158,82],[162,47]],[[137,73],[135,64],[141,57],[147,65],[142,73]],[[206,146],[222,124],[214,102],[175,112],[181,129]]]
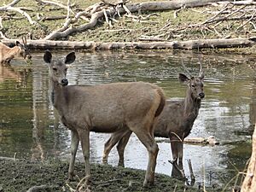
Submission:
[[[192,96],[191,90],[187,90],[187,95],[184,101],[184,115],[195,119],[201,107],[201,100]]]

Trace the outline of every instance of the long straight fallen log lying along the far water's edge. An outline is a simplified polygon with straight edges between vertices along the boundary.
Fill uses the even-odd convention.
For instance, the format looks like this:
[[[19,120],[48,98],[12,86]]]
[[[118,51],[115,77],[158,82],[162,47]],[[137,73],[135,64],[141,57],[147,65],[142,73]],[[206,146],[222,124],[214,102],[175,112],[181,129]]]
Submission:
[[[14,44],[17,39],[2,39],[3,44]],[[216,49],[251,47],[256,37],[230,39],[199,39],[172,42],[83,42],[27,40],[29,49]]]

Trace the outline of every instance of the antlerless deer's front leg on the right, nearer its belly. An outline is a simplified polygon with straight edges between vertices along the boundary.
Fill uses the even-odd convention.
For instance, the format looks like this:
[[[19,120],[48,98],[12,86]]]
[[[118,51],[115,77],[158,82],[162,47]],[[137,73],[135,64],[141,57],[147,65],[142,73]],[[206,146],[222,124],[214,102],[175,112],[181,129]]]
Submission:
[[[81,142],[82,151],[84,154],[85,164],[85,183],[90,180],[90,131],[89,129],[79,129],[79,140]]]

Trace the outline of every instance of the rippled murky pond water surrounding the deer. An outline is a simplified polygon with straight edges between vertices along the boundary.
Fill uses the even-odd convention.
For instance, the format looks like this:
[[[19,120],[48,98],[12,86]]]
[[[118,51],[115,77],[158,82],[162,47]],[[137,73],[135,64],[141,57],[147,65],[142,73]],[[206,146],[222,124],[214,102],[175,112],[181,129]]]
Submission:
[[[61,56],[66,53],[58,53]],[[198,56],[160,52],[79,53],[69,67],[69,84],[106,84],[110,82],[146,81],[160,85],[166,96],[181,99],[185,85],[177,80],[183,73],[199,70]],[[251,135],[256,116],[255,57],[241,55],[201,55],[205,69],[206,98],[190,137],[217,138],[218,146],[184,145],[185,160],[192,161],[197,184],[228,183],[242,171],[251,153]],[[33,64],[13,61],[0,67],[0,156],[45,160],[69,158],[70,132],[61,123],[49,103],[48,67],[43,53],[33,55]],[[103,143],[108,134],[90,134],[90,158],[101,162]],[[170,143],[159,143],[156,172],[171,174]],[[79,149],[79,160],[82,153]],[[125,166],[146,169],[148,153],[132,136],[125,150]],[[113,148],[109,163],[116,166]]]

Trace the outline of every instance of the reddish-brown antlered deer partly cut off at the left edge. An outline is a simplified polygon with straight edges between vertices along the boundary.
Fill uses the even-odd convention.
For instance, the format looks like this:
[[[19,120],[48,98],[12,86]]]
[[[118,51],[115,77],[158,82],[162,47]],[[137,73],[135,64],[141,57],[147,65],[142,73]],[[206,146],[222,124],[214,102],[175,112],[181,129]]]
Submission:
[[[19,41],[16,41],[15,46],[12,48],[0,42],[0,63],[9,63],[15,57],[31,59],[32,56],[26,45],[26,37],[22,38],[22,42],[23,44],[20,44]]]

